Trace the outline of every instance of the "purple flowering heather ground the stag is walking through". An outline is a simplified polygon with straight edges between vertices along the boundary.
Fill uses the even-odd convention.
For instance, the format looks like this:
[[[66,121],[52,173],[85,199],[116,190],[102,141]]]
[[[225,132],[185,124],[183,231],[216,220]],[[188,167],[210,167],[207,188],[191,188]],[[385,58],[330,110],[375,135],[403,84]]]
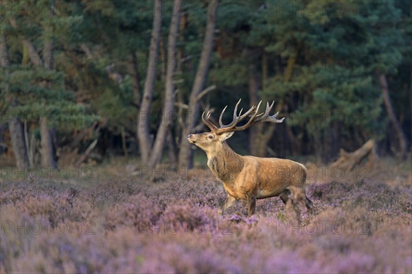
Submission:
[[[387,159],[369,177],[313,176],[302,225],[277,197],[250,219],[242,202],[220,216],[225,191],[203,169],[152,184],[125,162],[3,169],[0,273],[412,273],[410,169]]]

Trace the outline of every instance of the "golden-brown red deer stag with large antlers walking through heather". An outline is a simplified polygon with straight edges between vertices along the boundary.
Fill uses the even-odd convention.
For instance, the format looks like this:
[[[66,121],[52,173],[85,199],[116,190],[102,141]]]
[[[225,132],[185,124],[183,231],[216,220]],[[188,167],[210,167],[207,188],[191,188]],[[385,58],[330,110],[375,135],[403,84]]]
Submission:
[[[228,125],[222,123],[222,116],[227,106],[222,110],[217,127],[210,121],[210,113],[203,112],[202,121],[211,132],[190,134],[187,140],[200,147],[207,154],[207,166],[222,181],[227,191],[225,203],[220,208],[223,214],[227,208],[233,206],[238,200],[246,200],[248,203],[248,217],[255,212],[256,199],[277,197],[287,206],[290,203],[297,219],[300,218],[298,203],[304,203],[310,216],[312,215],[312,201],[306,197],[306,167],[298,162],[278,158],[258,158],[254,156],[241,156],[233,151],[225,142],[233,135],[233,132],[247,129],[253,125],[264,122],[282,123],[284,118],[276,119],[277,112],[269,115],[273,103],[266,104],[266,110],[258,114],[258,107],[253,105],[247,112],[238,112],[236,104],[233,112],[233,121]],[[249,119],[244,125],[238,125],[240,121]],[[256,140],[258,142],[259,140]]]

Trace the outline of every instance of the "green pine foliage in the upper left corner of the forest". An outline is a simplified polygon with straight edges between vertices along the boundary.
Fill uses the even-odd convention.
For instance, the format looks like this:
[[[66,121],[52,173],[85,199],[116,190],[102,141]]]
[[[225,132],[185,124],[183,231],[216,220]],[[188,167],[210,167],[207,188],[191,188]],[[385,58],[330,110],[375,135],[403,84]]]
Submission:
[[[2,95],[8,101],[3,110],[7,116],[16,116],[26,123],[38,125],[43,117],[50,126],[60,130],[79,129],[90,126],[98,116],[87,114],[87,106],[76,102],[76,92],[66,84],[67,64],[62,43],[71,33],[71,27],[80,24],[82,16],[59,14],[49,1],[16,1],[14,9],[5,10],[3,20],[15,25],[3,25],[2,30],[10,47],[10,66],[2,73]],[[22,40],[32,43],[39,55],[30,56]],[[42,56],[45,42],[54,41],[54,55]],[[45,62],[52,58],[53,69],[46,69]]]

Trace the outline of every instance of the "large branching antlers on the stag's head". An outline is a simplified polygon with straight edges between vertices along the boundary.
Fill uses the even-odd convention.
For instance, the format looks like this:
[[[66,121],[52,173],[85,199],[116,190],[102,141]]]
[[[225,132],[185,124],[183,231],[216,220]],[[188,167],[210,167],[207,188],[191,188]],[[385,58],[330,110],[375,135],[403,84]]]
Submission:
[[[202,114],[203,123],[205,123],[205,125],[207,125],[207,127],[209,127],[209,129],[212,132],[215,132],[216,134],[222,134],[224,132],[238,132],[240,130],[247,129],[249,127],[252,127],[253,125],[258,125],[258,124],[264,123],[264,122],[282,123],[284,121],[284,118],[282,118],[280,120],[276,119],[279,112],[277,112],[276,114],[273,114],[272,116],[269,115],[269,112],[271,112],[271,110],[273,108],[273,104],[275,103],[274,101],[271,103],[271,105],[269,105],[269,103],[266,103],[266,110],[264,112],[260,113],[260,114],[258,114],[258,112],[259,112],[259,107],[260,107],[260,104],[262,103],[262,101],[259,102],[257,107],[255,105],[253,105],[244,114],[242,114],[242,110],[243,110],[243,108],[242,108],[240,110],[239,114],[238,114],[238,106],[239,106],[241,100],[242,99],[239,99],[238,103],[236,103],[235,110],[233,111],[233,120],[231,121],[231,123],[229,123],[227,125],[224,125],[222,123],[223,113],[225,112],[227,106],[222,110],[222,113],[219,116],[219,125],[220,125],[220,127],[217,127],[216,125],[214,125],[214,123],[211,123],[211,121],[209,120],[211,114],[209,112],[207,112],[207,114],[206,114],[206,119],[205,119],[205,112],[203,112],[203,114]],[[247,123],[245,123],[244,125],[241,125],[239,127],[236,127],[236,125],[240,121],[243,121],[246,118],[249,118],[249,121],[247,121]]]

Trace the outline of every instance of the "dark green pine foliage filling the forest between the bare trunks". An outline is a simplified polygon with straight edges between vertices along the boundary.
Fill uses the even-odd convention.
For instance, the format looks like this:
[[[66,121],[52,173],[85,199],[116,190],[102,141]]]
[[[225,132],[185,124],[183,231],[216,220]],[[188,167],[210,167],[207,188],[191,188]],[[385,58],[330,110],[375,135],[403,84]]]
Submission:
[[[75,123],[77,128],[100,121],[108,138],[123,129],[127,136],[136,136],[139,105],[130,56],[136,56],[141,92],[147,66],[153,62],[148,63],[153,1],[59,1],[54,12],[50,1],[13,4],[13,9],[3,9],[1,14],[1,32],[11,60],[1,73],[1,111],[24,116],[47,110],[76,121],[83,116],[84,123]],[[172,7],[173,1],[164,1],[163,53],[167,52]],[[29,8],[31,12],[25,12]],[[203,62],[199,56],[207,1],[183,1],[181,9],[185,23],[177,47],[183,61],[174,79],[176,101],[187,103],[198,63]],[[396,142],[389,134],[377,82],[377,75],[385,73],[396,116],[410,139],[412,115],[406,102],[411,100],[411,22],[411,3],[403,0],[221,0],[205,83],[205,87],[216,85],[216,90],[203,98],[202,105],[217,112],[238,98],[243,99],[243,107],[248,105],[249,68],[253,66],[260,98],[279,103],[285,125],[290,127],[288,134],[292,132],[297,141],[309,144],[306,149],[288,149],[285,155],[317,154],[319,142],[332,135],[338,136],[342,147],[354,150],[369,138]],[[24,39],[32,42],[40,55],[45,42],[53,40],[54,69],[37,67],[28,58]],[[162,71],[169,64],[162,57],[156,63],[149,114],[153,136],[161,120]],[[109,77],[109,65],[121,81]],[[18,104],[12,105],[12,99]],[[176,106],[176,112],[184,114],[179,108]],[[58,130],[66,129],[63,125]],[[181,138],[179,130],[179,121],[174,119],[176,140]],[[286,134],[286,129],[281,134]],[[127,142],[130,147],[137,140],[129,138]],[[274,142],[269,143],[272,148]],[[336,155],[336,149],[339,147],[326,153],[328,157]]]

